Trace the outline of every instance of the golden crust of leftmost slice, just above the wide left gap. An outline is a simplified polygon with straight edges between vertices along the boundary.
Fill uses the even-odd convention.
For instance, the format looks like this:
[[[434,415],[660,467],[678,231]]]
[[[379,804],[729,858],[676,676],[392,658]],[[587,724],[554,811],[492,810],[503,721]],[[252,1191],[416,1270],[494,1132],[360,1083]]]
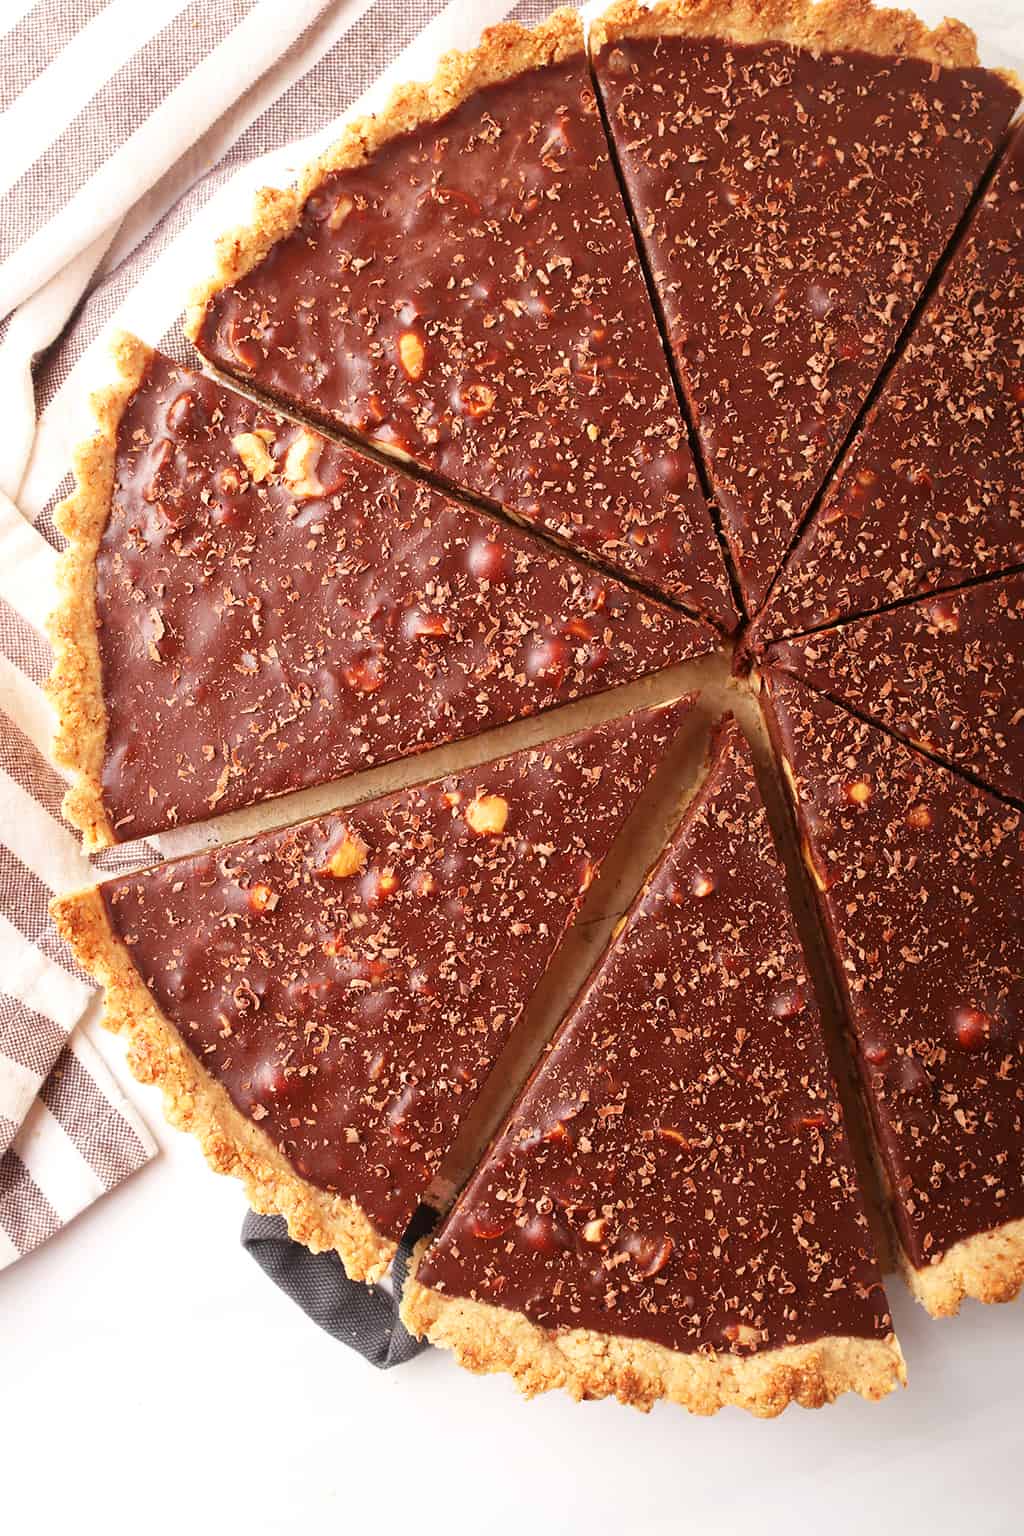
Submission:
[[[154,352],[138,336],[117,330],[111,356],[115,376],[91,398],[95,433],[75,449],[75,487],[54,511],[68,548],[57,561],[57,607],[46,624],[54,651],[46,682],[55,713],[51,751],[71,779],[61,805],[64,819],[81,833],[88,854],[118,842],[103,805],[107,713],[97,641],[95,561],[111,516],[118,427]]]

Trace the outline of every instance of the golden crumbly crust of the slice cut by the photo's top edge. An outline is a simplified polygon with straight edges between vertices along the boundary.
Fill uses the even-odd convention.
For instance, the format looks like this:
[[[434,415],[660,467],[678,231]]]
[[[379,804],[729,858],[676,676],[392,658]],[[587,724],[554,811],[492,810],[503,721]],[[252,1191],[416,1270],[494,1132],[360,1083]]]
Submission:
[[[732,43],[791,43],[811,52],[861,49],[920,58],[946,69],[978,65],[978,40],[947,17],[927,28],[912,11],[875,8],[872,0],[616,0],[590,29],[597,54],[622,37],[725,37]]]

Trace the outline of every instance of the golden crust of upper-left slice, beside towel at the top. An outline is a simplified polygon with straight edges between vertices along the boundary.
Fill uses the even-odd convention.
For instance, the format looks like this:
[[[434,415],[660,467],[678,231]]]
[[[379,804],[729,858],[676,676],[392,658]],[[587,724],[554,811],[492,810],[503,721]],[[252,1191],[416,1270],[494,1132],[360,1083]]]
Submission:
[[[396,86],[379,114],[348,123],[341,138],[306,166],[293,186],[263,187],[256,194],[252,223],[220,237],[213,275],[189,296],[186,335],[198,344],[210,301],[221,289],[252,272],[278,241],[292,233],[307,198],[327,177],[365,164],[390,138],[439,121],[487,86],[530,69],[562,63],[583,51],[579,15],[562,8],[534,28],[524,28],[517,22],[490,26],[476,48],[444,54],[430,81]]]

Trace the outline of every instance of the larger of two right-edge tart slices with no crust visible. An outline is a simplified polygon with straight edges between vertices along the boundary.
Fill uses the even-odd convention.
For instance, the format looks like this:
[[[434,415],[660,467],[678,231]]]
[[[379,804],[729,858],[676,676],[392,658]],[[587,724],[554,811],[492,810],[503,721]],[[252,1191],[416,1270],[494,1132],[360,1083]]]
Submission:
[[[781,636],[1024,564],[1024,129],[760,625]]]

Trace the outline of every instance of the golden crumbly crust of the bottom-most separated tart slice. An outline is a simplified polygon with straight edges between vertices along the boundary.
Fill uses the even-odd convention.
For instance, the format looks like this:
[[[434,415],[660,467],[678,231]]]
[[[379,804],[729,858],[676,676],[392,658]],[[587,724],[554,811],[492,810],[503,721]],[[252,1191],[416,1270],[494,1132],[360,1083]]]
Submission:
[[[419,1244],[413,1266],[428,1243]],[[617,1398],[642,1413],[663,1398],[691,1413],[738,1407],[771,1419],[791,1402],[820,1409],[844,1392],[877,1402],[897,1384],[906,1385],[903,1352],[892,1333],[883,1339],[829,1336],[763,1355],[685,1355],[591,1329],[542,1329],[522,1312],[431,1290],[415,1267],[401,1310],[410,1333],[450,1349],[476,1375],[507,1372],[527,1398],[562,1389],[577,1402]]]

